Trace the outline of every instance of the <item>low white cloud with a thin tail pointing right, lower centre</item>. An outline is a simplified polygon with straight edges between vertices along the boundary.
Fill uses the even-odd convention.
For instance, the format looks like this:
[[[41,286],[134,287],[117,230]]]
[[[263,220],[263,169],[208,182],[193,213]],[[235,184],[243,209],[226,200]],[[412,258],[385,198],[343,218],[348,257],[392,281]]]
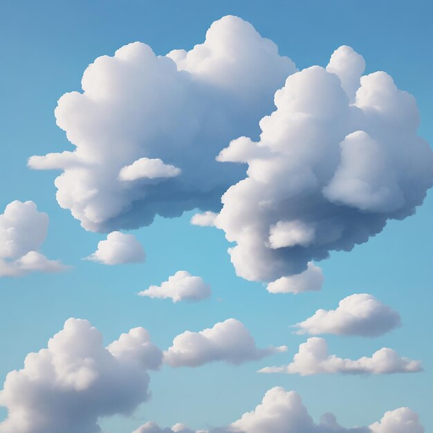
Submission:
[[[172,347],[164,352],[164,362],[172,367],[198,367],[214,361],[239,365],[286,349],[258,349],[248,329],[239,320],[228,319],[200,332],[177,335]]]

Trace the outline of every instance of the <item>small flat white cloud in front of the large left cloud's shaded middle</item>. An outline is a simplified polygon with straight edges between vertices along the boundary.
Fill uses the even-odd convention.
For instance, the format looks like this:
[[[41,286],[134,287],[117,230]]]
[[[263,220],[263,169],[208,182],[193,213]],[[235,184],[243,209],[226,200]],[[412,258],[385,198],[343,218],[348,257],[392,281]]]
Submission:
[[[162,160],[140,158],[131,165],[125,165],[120,169],[121,181],[136,181],[137,179],[156,179],[176,177],[181,174],[181,169],[173,165],[164,164]]]

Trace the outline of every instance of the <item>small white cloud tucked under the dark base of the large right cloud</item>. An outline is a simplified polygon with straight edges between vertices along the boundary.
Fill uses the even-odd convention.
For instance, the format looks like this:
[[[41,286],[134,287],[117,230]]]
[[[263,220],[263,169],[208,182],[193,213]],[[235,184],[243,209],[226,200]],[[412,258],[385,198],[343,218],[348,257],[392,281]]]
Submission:
[[[270,293],[302,293],[320,291],[323,284],[322,269],[308,261],[306,270],[290,277],[281,277],[266,286]]]

